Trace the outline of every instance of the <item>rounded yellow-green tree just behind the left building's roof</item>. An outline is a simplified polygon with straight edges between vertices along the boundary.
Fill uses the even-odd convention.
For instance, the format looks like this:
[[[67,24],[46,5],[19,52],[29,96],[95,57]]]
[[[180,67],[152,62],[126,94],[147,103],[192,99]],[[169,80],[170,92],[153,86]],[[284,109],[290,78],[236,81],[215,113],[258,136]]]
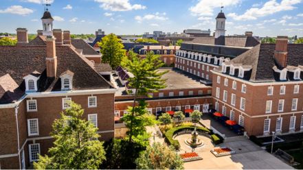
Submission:
[[[120,66],[122,58],[126,56],[126,50],[115,34],[104,36],[98,45],[101,48],[100,53],[102,53],[103,63],[109,63],[111,69],[116,69],[117,66]]]

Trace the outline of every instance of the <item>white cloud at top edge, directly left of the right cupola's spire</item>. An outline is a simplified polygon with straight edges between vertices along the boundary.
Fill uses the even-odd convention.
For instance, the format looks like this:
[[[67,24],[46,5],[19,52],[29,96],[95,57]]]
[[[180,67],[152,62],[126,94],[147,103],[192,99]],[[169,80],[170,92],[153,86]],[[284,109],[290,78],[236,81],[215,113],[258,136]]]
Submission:
[[[220,8],[222,2],[223,5],[227,7],[237,5],[240,1],[241,0],[199,0],[199,2],[190,7],[189,10],[194,16],[212,16],[214,14],[214,8]]]

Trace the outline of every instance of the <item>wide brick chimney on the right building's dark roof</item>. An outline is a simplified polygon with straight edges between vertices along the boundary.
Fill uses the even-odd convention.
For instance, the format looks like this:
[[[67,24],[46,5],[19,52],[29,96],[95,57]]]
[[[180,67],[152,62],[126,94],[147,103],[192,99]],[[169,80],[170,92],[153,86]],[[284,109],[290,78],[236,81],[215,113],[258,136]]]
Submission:
[[[278,36],[276,38],[276,49],[274,58],[278,64],[282,67],[287,66],[287,43],[288,43],[287,36]]]

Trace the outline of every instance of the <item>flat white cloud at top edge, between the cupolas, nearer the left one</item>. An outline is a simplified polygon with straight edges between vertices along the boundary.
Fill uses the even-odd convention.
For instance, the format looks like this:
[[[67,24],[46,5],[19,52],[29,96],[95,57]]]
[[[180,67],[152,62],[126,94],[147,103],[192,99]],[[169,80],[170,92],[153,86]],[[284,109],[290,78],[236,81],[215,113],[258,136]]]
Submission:
[[[100,8],[111,11],[129,11],[129,10],[144,10],[146,6],[140,4],[131,4],[129,0],[95,0],[101,3]]]

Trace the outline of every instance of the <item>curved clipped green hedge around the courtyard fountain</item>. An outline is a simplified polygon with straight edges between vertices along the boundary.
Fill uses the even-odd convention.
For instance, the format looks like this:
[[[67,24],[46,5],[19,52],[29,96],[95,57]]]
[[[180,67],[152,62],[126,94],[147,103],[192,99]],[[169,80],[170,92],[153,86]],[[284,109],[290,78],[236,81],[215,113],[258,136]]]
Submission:
[[[178,132],[181,132],[183,130],[194,130],[193,126],[179,126],[179,127],[173,127],[170,130],[168,130],[165,134],[166,136],[166,143],[172,145],[173,147],[175,147],[175,149],[179,149],[180,148],[180,143],[177,140],[174,140],[172,138],[172,136],[174,136],[175,134],[177,134]],[[212,139],[212,142],[215,145],[218,145],[219,143],[223,143],[223,138],[221,136],[219,136],[218,134],[213,134],[210,130],[208,130],[205,127],[197,127],[197,131],[198,132],[203,132],[205,134],[210,134],[210,138]]]

